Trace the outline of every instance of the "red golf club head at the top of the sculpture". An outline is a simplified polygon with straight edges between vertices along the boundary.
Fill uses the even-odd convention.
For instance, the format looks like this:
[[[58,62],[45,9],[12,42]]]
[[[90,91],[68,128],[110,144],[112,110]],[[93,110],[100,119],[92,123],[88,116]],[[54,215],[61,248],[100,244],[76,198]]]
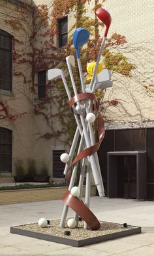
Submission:
[[[98,9],[96,11],[97,17],[105,24],[106,26],[106,30],[104,32],[104,37],[107,36],[108,34],[108,29],[110,28],[110,24],[112,22],[112,18],[111,15],[108,11],[106,11],[105,9]]]

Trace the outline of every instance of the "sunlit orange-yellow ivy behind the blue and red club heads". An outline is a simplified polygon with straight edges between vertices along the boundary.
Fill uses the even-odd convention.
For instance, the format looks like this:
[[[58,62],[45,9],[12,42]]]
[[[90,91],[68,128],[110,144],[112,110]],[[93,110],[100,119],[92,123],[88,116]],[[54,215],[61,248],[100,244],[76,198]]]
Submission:
[[[105,1],[105,0],[104,0]],[[102,1],[102,3],[104,2]],[[89,33],[91,35],[89,41],[87,42],[87,47],[83,47],[84,49],[80,49],[80,56],[81,56],[81,62],[82,62],[82,68],[83,71],[86,73],[86,64],[87,62],[95,61],[97,59],[98,53],[99,53],[99,47],[100,43],[102,41],[102,37],[99,33],[100,26],[104,26],[101,22],[99,22],[96,14],[93,18],[87,16],[87,9],[89,1],[65,1],[65,4],[63,7],[61,7],[61,1],[55,0],[53,4],[52,9],[52,33],[56,35],[57,33],[57,19],[62,18],[63,16],[69,14],[70,11],[74,10],[74,17],[76,19],[76,22],[72,24],[72,27],[70,28],[70,37],[69,41],[67,43],[67,46],[65,49],[67,49],[67,52],[65,49],[63,50],[63,56],[67,56],[69,54],[75,54],[74,53],[74,47],[72,47],[72,32],[78,27],[83,27],[87,30],[89,30]],[[102,4],[99,3],[98,0],[93,1],[95,2],[93,5],[93,12],[100,7],[102,7]],[[87,3],[87,5],[85,5]],[[90,5],[89,5],[90,7]],[[104,51],[102,53],[103,55],[103,66],[104,68],[108,68],[110,70],[113,70],[115,72],[118,72],[123,75],[131,76],[131,70],[134,68],[134,65],[129,63],[127,58],[123,56],[121,53],[114,53],[111,51],[113,46],[116,45],[123,45],[127,43],[125,36],[119,35],[117,33],[114,33],[107,41],[106,45],[104,47]],[[74,77],[76,81],[76,86],[78,88],[78,91],[80,91],[80,80],[79,80],[79,74],[78,74],[78,65],[76,64],[76,68],[74,68]],[[63,87],[63,85],[61,85]],[[97,91],[97,96],[101,99],[104,95],[104,92],[102,90]],[[67,98],[66,98],[67,99]],[[103,102],[103,104],[106,104],[106,102]],[[115,106],[118,104],[118,101],[108,100],[107,104],[112,104]],[[73,118],[70,116],[69,118]],[[68,125],[66,131],[69,131],[69,134],[72,135],[74,131],[74,127],[72,127],[73,121],[68,122]]]

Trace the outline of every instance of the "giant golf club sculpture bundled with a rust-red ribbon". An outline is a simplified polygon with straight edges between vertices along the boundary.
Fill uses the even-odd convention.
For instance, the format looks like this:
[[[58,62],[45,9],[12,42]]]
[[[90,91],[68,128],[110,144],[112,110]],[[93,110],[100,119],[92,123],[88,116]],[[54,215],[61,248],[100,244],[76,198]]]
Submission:
[[[91,230],[97,230],[98,228],[100,228],[100,223],[97,217],[95,217],[95,215],[89,209],[91,171],[93,173],[93,178],[97,186],[99,196],[100,197],[104,196],[104,186],[102,183],[99,159],[97,156],[97,150],[99,149],[100,143],[104,138],[104,121],[102,120],[102,116],[99,112],[99,102],[97,100],[97,97],[94,95],[94,93],[96,89],[112,87],[112,81],[110,80],[111,73],[109,70],[102,70],[102,72],[96,75],[97,68],[99,66],[100,56],[102,55],[102,50],[104,47],[106,36],[108,34],[108,29],[111,24],[111,16],[106,10],[102,8],[97,10],[96,14],[98,18],[104,23],[104,25],[106,26],[106,29],[104,32],[104,38],[102,40],[99,56],[97,58],[97,62],[95,65],[95,69],[93,72],[93,77],[91,79],[90,85],[87,88],[85,87],[84,75],[82,73],[82,65],[80,62],[79,49],[85,43],[87,43],[89,39],[89,32],[84,28],[77,28],[73,34],[73,44],[76,50],[76,58],[78,62],[78,70],[80,74],[82,93],[78,94],[76,85],[74,82],[74,77],[72,74],[72,66],[75,65],[74,56],[68,56],[66,58],[67,66],[70,74],[70,80],[72,82],[72,88],[74,91],[74,96],[70,95],[69,87],[67,86],[67,81],[65,79],[65,75],[63,71],[59,69],[48,70],[49,80],[55,79],[57,77],[61,77],[61,79],[63,80],[63,83],[65,85],[65,90],[69,98],[70,108],[72,108],[73,110],[73,114],[77,123],[77,129],[74,135],[74,139],[72,141],[72,146],[70,148],[69,155],[66,153],[61,155],[61,161],[66,163],[64,174],[66,177],[67,184],[69,185],[69,189],[67,193],[63,196],[63,201],[65,202],[65,205],[63,208],[63,213],[61,216],[61,221],[59,226],[60,227],[65,226],[65,221],[67,219],[67,212],[70,207],[74,210],[75,215],[73,219],[69,219],[67,225],[70,228],[78,226],[78,217],[80,216],[84,220],[84,228],[88,228],[89,226]],[[84,105],[80,103],[81,101],[82,102],[84,101]],[[95,142],[95,137],[93,134],[93,125],[92,125],[96,117],[97,117],[98,135],[99,135],[99,142],[97,143]],[[73,160],[74,152],[76,150],[76,146],[79,138],[80,138],[80,143],[78,146],[78,154]],[[87,167],[87,172],[86,172],[85,203],[84,203],[81,198],[82,198],[82,187],[84,184],[86,158],[89,166]],[[81,162],[80,179],[79,179],[78,187],[76,186],[74,187],[74,182],[76,180],[79,161]]]

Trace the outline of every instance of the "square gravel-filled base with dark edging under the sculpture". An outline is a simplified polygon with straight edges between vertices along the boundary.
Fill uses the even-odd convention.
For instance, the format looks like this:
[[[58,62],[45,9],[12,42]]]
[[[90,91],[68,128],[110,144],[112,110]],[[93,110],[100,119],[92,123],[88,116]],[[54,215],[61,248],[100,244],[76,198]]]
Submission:
[[[70,235],[66,235],[65,231],[70,231]],[[59,228],[59,220],[50,221],[46,228],[41,228],[38,223],[23,224],[20,226],[11,226],[10,233],[38,238],[59,244],[71,245],[74,247],[82,247],[89,244],[96,244],[115,238],[122,238],[141,233],[138,226],[108,223],[100,221],[99,230],[84,229],[83,221],[79,222],[78,228]]]

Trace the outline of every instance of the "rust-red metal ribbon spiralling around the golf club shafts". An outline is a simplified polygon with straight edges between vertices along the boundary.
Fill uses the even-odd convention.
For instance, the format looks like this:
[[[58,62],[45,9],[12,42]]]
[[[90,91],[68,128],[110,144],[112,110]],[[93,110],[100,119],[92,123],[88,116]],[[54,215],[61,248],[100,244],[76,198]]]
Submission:
[[[82,160],[83,158],[91,156],[92,154],[97,152],[105,135],[104,121],[102,115],[99,112],[99,101],[97,100],[97,97],[93,93],[80,93],[70,99],[70,107],[72,107],[76,102],[81,100],[94,100],[94,107],[95,110],[98,112],[97,125],[99,142],[97,142],[93,146],[90,146],[89,148],[85,148],[76,156],[76,158],[74,158],[65,176],[68,185],[70,183],[71,169],[73,165],[75,165],[75,163]],[[76,213],[78,213],[80,217],[82,217],[82,219],[89,225],[89,228],[91,228],[91,230],[97,230],[100,228],[100,223],[97,217],[95,217],[95,215],[90,211],[90,209],[84,204],[82,200],[79,200],[78,198],[72,196],[69,190],[63,196],[63,201],[67,203],[67,205],[69,205],[69,207],[72,208]]]

